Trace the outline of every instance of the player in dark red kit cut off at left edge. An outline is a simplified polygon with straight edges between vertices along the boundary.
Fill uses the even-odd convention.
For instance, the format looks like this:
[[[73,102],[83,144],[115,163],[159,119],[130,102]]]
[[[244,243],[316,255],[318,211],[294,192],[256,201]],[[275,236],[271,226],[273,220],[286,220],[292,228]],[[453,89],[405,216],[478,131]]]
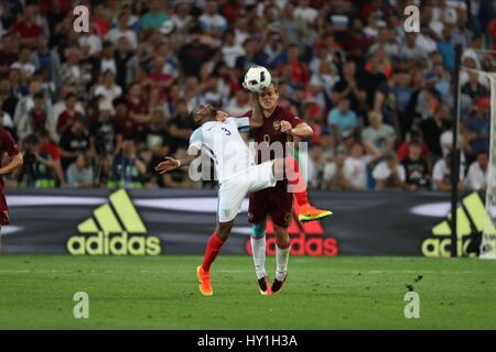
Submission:
[[[0,127],[0,161],[3,160],[6,153],[9,155],[10,161],[6,166],[0,167],[0,175],[9,174],[22,165],[22,154],[19,152],[18,144],[10,133]],[[9,209],[7,208],[6,195],[3,195],[3,179],[0,177],[0,235],[1,227],[8,223]]]

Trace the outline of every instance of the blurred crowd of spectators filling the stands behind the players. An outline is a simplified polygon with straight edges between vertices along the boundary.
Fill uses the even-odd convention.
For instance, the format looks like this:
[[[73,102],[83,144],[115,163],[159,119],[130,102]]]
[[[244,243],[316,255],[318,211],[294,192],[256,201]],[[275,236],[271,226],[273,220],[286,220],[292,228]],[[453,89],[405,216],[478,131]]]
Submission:
[[[78,4],[88,33],[74,31]],[[403,29],[409,4],[420,33]],[[6,185],[205,187],[153,167],[186,153],[196,105],[249,110],[240,82],[263,65],[314,130],[311,188],[450,189],[454,48],[496,72],[495,12],[490,0],[2,1],[0,124],[24,153]],[[489,80],[460,79],[459,187],[484,190]]]

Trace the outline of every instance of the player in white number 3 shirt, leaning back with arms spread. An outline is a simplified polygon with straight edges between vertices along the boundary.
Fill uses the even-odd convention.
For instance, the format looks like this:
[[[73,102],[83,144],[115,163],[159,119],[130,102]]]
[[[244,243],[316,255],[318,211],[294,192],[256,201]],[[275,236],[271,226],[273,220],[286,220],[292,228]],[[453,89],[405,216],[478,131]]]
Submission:
[[[200,292],[205,296],[212,296],[209,270],[233,229],[242,200],[249,193],[273,187],[278,179],[282,179],[284,160],[276,158],[257,165],[239,134],[239,128],[261,127],[263,123],[261,113],[254,113],[250,119],[228,118],[226,112],[216,110],[209,105],[202,105],[193,110],[192,118],[200,128],[190,138],[187,158],[166,157],[155,170],[163,174],[188,165],[198,157],[201,151],[215,164],[219,184],[217,228],[208,240],[203,263],[197,267]]]

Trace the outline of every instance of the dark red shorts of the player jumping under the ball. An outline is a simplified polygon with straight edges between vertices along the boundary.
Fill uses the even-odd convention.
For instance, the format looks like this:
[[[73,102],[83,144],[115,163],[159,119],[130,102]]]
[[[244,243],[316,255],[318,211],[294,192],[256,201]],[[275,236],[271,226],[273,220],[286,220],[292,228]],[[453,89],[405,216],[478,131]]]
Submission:
[[[272,222],[282,228],[291,223],[293,194],[288,193],[288,182],[280,180],[274,187],[250,194],[248,221],[260,223],[270,215]]]

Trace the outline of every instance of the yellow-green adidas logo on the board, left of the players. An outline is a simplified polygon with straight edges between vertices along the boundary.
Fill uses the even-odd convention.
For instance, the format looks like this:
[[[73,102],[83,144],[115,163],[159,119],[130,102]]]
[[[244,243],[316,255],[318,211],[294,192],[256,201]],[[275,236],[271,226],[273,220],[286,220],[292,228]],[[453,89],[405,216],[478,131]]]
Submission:
[[[95,209],[94,216],[77,227],[83,235],[67,241],[73,255],[158,255],[160,239],[147,237],[147,228],[125,189],[109,197],[110,202]]]

